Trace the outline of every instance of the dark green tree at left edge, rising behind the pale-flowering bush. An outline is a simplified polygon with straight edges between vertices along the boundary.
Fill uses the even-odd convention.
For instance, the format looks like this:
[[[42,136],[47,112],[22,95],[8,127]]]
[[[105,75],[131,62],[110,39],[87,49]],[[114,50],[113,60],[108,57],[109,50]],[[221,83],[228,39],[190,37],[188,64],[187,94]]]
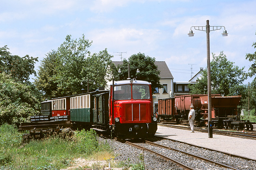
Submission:
[[[36,75],[34,64],[38,62],[38,57],[29,57],[29,55],[19,57],[11,55],[8,50],[7,46],[0,48],[0,72],[10,74],[20,82],[27,82],[31,74]]]

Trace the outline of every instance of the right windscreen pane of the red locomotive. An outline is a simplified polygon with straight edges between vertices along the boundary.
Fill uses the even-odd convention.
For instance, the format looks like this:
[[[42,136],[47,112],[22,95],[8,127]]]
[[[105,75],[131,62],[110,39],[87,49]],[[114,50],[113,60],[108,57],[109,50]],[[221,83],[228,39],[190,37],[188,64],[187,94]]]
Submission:
[[[150,90],[148,85],[132,85],[133,99],[150,99]]]

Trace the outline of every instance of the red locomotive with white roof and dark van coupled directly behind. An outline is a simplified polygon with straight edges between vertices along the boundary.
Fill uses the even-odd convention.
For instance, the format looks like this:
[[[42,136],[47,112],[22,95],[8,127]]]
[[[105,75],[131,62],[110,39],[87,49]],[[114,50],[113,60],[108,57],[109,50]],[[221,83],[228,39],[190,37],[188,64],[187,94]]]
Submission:
[[[109,95],[108,112],[104,102],[106,95]],[[116,81],[110,85],[109,94],[96,95],[94,102],[95,130],[103,130],[124,139],[155,135],[157,118],[153,114],[151,83],[136,79]],[[101,114],[103,112],[105,114]]]

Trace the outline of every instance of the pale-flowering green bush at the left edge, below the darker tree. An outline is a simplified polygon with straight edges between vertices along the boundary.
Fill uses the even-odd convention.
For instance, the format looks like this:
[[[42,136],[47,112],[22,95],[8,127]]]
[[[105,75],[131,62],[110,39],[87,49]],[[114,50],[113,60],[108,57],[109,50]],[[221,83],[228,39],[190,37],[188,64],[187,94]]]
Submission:
[[[0,124],[18,125],[39,114],[38,90],[32,84],[17,82],[11,75],[0,73]]]

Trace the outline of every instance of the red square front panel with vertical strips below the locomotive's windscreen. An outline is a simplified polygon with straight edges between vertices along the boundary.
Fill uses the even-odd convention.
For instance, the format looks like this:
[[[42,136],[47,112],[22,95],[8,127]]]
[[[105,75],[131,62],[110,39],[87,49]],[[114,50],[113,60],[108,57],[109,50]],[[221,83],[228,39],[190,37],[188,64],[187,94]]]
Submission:
[[[147,108],[144,103],[132,103],[125,105],[126,121],[143,121],[146,120]]]

